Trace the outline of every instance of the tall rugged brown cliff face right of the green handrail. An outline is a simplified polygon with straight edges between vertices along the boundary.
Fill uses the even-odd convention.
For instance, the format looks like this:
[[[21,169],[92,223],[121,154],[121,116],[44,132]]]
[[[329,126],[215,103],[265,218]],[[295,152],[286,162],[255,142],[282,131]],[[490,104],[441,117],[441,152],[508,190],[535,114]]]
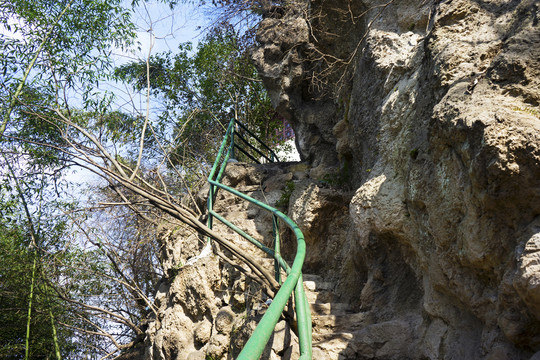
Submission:
[[[254,60],[311,167],[289,206],[306,267],[371,315],[335,358],[540,350],[539,17],[317,0],[261,23]]]

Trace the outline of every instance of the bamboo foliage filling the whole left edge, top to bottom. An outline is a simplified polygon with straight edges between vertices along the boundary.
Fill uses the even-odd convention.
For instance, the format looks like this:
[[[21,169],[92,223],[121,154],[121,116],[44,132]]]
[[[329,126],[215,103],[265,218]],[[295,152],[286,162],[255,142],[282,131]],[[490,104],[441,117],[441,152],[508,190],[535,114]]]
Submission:
[[[135,27],[120,0],[2,1],[0,26],[0,323],[9,324],[0,355],[108,353],[115,346],[99,329],[111,319],[87,305],[99,308],[122,287],[107,257],[68,231],[76,203],[62,175],[89,140],[58,109],[105,143],[136,136],[125,131],[137,130],[134,119],[106,111],[111,96],[95,90],[109,78],[111,49],[129,46]],[[119,329],[121,346],[134,330]]]

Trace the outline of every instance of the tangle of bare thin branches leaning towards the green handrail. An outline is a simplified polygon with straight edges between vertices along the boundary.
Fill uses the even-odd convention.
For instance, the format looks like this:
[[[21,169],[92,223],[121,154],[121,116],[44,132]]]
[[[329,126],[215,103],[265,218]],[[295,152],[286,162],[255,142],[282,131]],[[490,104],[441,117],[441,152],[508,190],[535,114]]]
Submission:
[[[144,271],[148,270],[144,269],[145,266],[152,265],[157,260],[153,259],[143,264],[129,263],[130,259],[140,259],[140,257],[136,256],[136,252],[145,251],[144,248],[141,249],[141,245],[155,247],[155,239],[152,239],[149,236],[150,231],[147,231],[146,234],[124,234],[120,236],[120,240],[123,242],[119,241],[119,237],[114,236],[113,230],[115,227],[122,231],[126,230],[126,218],[122,217],[121,220],[120,218],[115,219],[112,214],[115,212],[115,216],[118,216],[119,209],[129,210],[130,214],[132,214],[132,222],[144,223],[144,225],[135,227],[139,230],[145,227],[155,229],[164,219],[188,225],[200,234],[201,239],[210,237],[219,244],[215,249],[215,253],[237,269],[244,271],[250,278],[260,282],[267,294],[273,295],[276,292],[278,284],[273,275],[240,247],[226,239],[222,234],[208,228],[201,220],[200,211],[193,210],[181,198],[168,191],[168,184],[159,171],[145,173],[144,166],[140,165],[139,162],[126,164],[119,158],[118,154],[112,153],[108,149],[109,145],[101,142],[98,136],[92,133],[90,129],[78,123],[78,119],[76,117],[74,118],[75,112],[61,109],[59,106],[43,109],[36,109],[35,106],[29,106],[27,110],[24,110],[24,108],[24,104],[22,104],[19,111],[26,111],[27,116],[37,117],[43,123],[53,126],[58,134],[60,134],[62,141],[60,144],[42,143],[18,138],[9,132],[4,134],[4,138],[11,141],[30,143],[33,146],[40,146],[62,153],[66,161],[72,166],[87,169],[104,179],[109,184],[107,187],[110,192],[108,198],[114,199],[113,201],[101,202],[94,208],[94,210],[99,209],[101,211],[109,209],[107,216],[103,219],[105,221],[96,222],[90,226],[95,230],[96,227],[99,229],[100,223],[108,224],[108,228],[106,229],[101,226],[102,229],[99,231],[99,236],[96,236],[95,233],[90,233],[88,230],[89,224],[85,224],[81,218],[74,216],[75,213],[69,214],[73,226],[78,229],[78,234],[85,237],[86,241],[94,249],[99,250],[101,255],[108,259],[113,271],[87,269],[82,264],[74,270],[80,274],[88,272],[93,274],[93,276],[98,276],[116,283],[119,286],[119,290],[117,291],[124,293],[123,297],[120,298],[129,299],[130,303],[125,304],[121,308],[108,309],[107,307],[98,306],[88,301],[73,299],[69,291],[51,284],[60,299],[78,309],[78,311],[73,312],[73,314],[78,314],[75,316],[80,317],[82,316],[80,314],[84,312],[90,312],[92,315],[83,316],[79,319],[86,322],[89,328],[77,327],[65,322],[61,324],[62,326],[70,327],[72,330],[80,333],[109,339],[110,343],[114,345],[112,350],[110,348],[102,349],[107,351],[105,357],[108,358],[118,351],[129,347],[134,341],[140,341],[140,337],[143,336],[144,332],[137,323],[138,320],[126,315],[126,313],[129,313],[131,307],[134,306],[137,308],[139,315],[140,313],[153,312],[155,314],[156,312],[151,296],[155,288],[141,288],[142,282],[140,277],[143,276]],[[144,135],[140,136],[142,138]],[[170,153],[164,148],[163,150],[162,162],[169,162]],[[139,158],[141,158],[140,153],[143,151],[144,147],[141,146],[139,148]],[[179,175],[182,176],[181,173]],[[184,195],[194,196],[193,194]],[[117,221],[124,222],[124,225],[117,225]],[[126,241],[128,240],[134,242],[137,246],[126,249]],[[153,241],[154,243],[152,244]],[[153,253],[157,252],[157,249],[153,250]],[[61,261],[61,259],[59,258],[58,261]],[[241,263],[247,264],[250,270],[244,269],[240,265]],[[66,264],[59,263],[59,265]],[[163,274],[157,269],[150,275],[153,277],[153,283],[155,284],[158,281],[157,279]],[[120,324],[124,330],[118,334],[112,334],[107,326],[99,321],[92,320],[92,318],[112,321]],[[126,332],[126,329],[129,331]],[[121,339],[129,337],[128,333],[134,333],[136,338],[129,342],[122,341]]]

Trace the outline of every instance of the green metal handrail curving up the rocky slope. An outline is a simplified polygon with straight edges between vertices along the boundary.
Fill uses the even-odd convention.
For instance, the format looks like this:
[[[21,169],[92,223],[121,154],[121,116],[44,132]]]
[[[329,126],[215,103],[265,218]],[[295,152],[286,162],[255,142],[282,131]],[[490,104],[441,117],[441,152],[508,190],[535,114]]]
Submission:
[[[256,146],[252,145],[239,131],[242,129],[262,148],[264,148],[267,153],[261,151]],[[247,145],[249,149],[241,147],[236,139],[241,139],[242,143]],[[227,151],[226,151],[227,149]],[[260,202],[252,197],[241,193],[238,190],[235,190],[229,186],[223,185],[221,179],[225,173],[227,163],[229,160],[234,159],[234,150],[240,150],[244,155],[254,162],[260,163],[257,160],[257,155],[259,159],[264,158],[267,161],[279,161],[277,155],[265,145],[255,134],[249,131],[244,125],[235,119],[231,120],[221,143],[216,161],[208,177],[208,182],[210,184],[210,190],[208,194],[208,221],[207,225],[209,228],[212,228],[213,219],[221,221],[223,224],[230,227],[236,233],[240,234],[242,237],[247,239],[249,242],[253,243],[259,249],[263,250],[270,256],[274,258],[274,271],[276,281],[281,284],[279,291],[275,295],[272,303],[268,307],[266,313],[262,317],[259,325],[255,328],[252,336],[249,338],[248,342],[240,352],[240,355],[237,359],[247,360],[247,359],[259,359],[268,343],[268,340],[272,336],[274,329],[281,314],[283,313],[289,299],[294,291],[294,303],[296,308],[296,319],[298,323],[298,339],[300,344],[300,359],[310,360],[311,359],[311,312],[309,310],[309,305],[307,302],[306,294],[304,292],[304,284],[302,280],[302,266],[304,264],[304,259],[306,256],[306,242],[304,240],[304,235],[298,226],[285,214],[281,211],[274,209],[273,207]],[[253,155],[249,151],[255,152],[257,155]],[[226,152],[225,152],[226,151]],[[216,200],[217,192],[219,189],[228,191],[246,201],[249,201],[252,204],[255,204],[269,212],[272,213],[272,224],[273,224],[273,233],[274,233],[274,249],[270,249],[263,245],[261,242],[255,240],[253,237],[248,235],[245,231],[232,224],[230,221],[220,216],[214,211],[214,202]],[[294,258],[293,264],[291,267],[285,262],[281,257],[281,244],[279,238],[279,228],[278,222],[281,219],[285,224],[293,231],[296,236],[297,241],[297,250],[296,256]],[[210,240],[209,240],[210,241]],[[280,269],[285,270],[287,278],[282,283],[281,282],[281,271]]]

